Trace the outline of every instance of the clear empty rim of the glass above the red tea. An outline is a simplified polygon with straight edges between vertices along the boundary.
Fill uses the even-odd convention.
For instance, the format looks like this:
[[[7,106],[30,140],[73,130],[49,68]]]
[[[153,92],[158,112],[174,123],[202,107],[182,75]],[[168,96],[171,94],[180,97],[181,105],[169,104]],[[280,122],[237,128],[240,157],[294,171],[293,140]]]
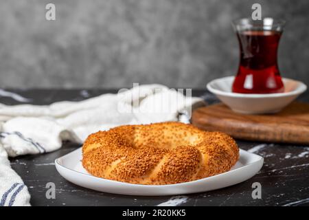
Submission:
[[[262,28],[262,27],[284,27],[286,20],[275,17],[264,17],[261,20],[253,20],[251,17],[234,19],[231,21],[234,27]]]

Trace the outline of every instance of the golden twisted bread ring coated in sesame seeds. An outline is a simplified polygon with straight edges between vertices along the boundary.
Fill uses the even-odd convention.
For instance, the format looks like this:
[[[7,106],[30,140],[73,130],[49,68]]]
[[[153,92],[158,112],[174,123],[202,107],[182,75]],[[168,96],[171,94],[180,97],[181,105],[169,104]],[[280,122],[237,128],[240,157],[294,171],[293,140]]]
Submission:
[[[131,184],[178,184],[227,172],[239,149],[229,135],[191,124],[118,126],[87,137],[82,166],[96,177]]]

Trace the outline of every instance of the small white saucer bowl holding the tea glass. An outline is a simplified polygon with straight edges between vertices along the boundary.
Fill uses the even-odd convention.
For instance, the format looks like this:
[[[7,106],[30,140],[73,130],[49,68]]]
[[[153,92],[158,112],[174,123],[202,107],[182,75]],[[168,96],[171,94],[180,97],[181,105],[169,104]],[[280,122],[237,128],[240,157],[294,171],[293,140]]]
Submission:
[[[306,91],[307,86],[297,80],[282,78],[284,92],[277,94],[237,94],[231,92],[234,76],[212,80],[207,89],[215,94],[233,111],[245,114],[276,113],[286,107],[297,96]]]

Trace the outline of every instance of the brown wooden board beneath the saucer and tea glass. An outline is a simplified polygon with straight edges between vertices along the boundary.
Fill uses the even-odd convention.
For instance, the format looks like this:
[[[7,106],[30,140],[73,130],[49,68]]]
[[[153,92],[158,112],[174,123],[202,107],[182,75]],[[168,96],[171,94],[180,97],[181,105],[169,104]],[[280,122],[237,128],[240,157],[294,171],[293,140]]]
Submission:
[[[244,140],[309,144],[309,104],[302,102],[293,102],[281,112],[268,115],[244,115],[225,104],[212,104],[196,109],[192,124]]]

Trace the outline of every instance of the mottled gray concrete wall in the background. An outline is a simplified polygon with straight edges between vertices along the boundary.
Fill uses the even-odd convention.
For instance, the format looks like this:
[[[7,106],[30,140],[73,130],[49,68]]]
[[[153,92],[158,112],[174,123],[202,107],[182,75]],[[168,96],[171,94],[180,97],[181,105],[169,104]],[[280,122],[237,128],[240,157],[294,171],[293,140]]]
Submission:
[[[279,67],[309,85],[308,0],[0,0],[0,87],[205,87],[236,73],[253,3],[288,19]]]

